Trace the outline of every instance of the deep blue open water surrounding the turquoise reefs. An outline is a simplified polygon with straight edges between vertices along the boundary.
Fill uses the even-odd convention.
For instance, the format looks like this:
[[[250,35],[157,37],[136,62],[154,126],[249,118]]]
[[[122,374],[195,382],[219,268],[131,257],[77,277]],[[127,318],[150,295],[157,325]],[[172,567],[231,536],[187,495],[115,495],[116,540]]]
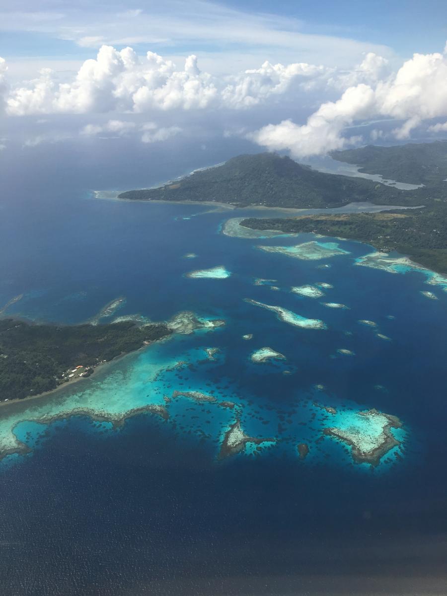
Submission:
[[[188,383],[286,414],[323,384],[331,405],[398,415],[408,433],[404,457],[371,470],[334,442],[330,457],[305,462],[271,448],[216,463],[214,440],[151,415],[119,432],[70,418],[35,445],[32,425],[18,428],[34,449],[0,470],[2,594],[424,594],[424,585],[447,593],[447,293],[416,272],[354,266],[371,251],[358,243],[340,242],[350,254],[322,261],[265,253],[256,245],[313,238],[226,237],[222,222],[243,214],[203,211],[98,200],[78,188],[20,195],[1,211],[0,303],[24,293],[8,313],[36,321],[85,321],[117,296],[126,297],[117,315],[225,318],[206,339],[161,348],[179,359],[185,350],[222,349]],[[189,252],[197,258],[183,259]],[[216,265],[231,277],[184,277]],[[334,286],[321,300],[350,309],[288,291],[321,281]],[[439,300],[420,293],[429,289]],[[322,319],[328,329],[291,327],[244,298]],[[377,322],[392,342],[358,319]],[[262,346],[287,354],[294,374],[250,363]],[[355,356],[331,358],[340,347]],[[250,424],[262,433],[259,421]]]

